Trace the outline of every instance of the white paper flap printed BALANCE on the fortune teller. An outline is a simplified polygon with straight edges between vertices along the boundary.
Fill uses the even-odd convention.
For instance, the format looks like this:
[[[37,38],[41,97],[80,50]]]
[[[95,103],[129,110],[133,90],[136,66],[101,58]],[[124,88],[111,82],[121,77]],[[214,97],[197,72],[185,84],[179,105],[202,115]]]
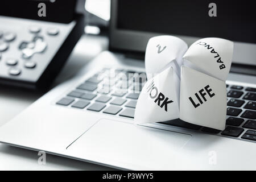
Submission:
[[[233,42],[220,38],[204,38],[193,43],[183,56],[188,67],[226,81],[233,56]]]

